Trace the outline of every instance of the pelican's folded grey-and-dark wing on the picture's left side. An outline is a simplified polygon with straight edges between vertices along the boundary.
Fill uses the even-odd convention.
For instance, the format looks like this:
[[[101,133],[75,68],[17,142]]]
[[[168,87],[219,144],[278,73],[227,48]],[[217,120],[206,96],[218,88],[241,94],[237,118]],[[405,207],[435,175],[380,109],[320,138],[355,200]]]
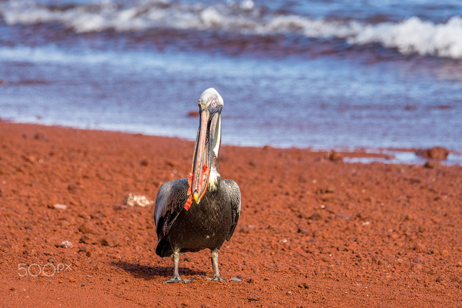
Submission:
[[[165,236],[183,209],[188,199],[187,193],[188,179],[165,182],[157,192],[154,203],[154,220],[158,238],[156,253],[161,257],[168,257],[173,253]]]

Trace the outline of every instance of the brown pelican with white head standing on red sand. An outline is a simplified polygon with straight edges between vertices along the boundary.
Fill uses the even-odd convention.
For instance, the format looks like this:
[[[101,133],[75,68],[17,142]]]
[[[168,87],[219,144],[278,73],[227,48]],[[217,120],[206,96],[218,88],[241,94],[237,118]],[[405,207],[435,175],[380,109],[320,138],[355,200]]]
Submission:
[[[223,99],[213,88],[199,99],[199,131],[194,148],[192,172],[187,179],[165,182],[154,205],[158,243],[156,253],[173,254],[173,277],[164,282],[191,282],[178,275],[180,253],[211,251],[213,281],[223,281],[218,270],[218,252],[229,241],[241,212],[241,192],[232,180],[218,173]],[[242,281],[231,278],[230,280]]]

